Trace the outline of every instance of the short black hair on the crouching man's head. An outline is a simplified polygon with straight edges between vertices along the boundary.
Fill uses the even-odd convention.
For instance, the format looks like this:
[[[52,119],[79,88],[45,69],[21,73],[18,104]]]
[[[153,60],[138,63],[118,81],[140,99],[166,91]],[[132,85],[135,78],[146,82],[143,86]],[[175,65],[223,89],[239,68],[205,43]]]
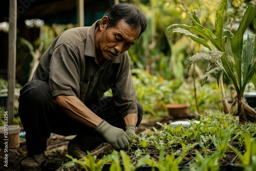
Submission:
[[[144,13],[134,4],[120,3],[113,5],[104,16],[108,16],[109,24],[107,28],[117,25],[123,19],[125,23],[134,29],[141,27],[139,36],[146,30],[147,20]]]

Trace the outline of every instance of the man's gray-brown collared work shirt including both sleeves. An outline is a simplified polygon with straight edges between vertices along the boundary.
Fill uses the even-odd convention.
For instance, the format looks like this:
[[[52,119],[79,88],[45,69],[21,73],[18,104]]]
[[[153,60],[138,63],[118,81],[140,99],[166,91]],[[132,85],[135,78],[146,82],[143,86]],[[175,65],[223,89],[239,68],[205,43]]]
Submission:
[[[95,52],[95,28],[77,27],[57,36],[40,58],[33,79],[49,83],[52,96],[76,96],[82,102],[99,99],[112,89],[122,117],[137,113],[136,91],[130,58],[124,52],[99,63]]]

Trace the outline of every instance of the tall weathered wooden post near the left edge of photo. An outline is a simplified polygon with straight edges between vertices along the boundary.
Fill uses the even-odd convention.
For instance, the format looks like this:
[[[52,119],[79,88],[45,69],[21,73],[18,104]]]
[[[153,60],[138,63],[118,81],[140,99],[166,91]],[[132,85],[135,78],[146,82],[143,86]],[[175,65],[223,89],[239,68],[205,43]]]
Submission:
[[[17,0],[10,0],[8,35],[8,124],[13,124],[16,77]]]

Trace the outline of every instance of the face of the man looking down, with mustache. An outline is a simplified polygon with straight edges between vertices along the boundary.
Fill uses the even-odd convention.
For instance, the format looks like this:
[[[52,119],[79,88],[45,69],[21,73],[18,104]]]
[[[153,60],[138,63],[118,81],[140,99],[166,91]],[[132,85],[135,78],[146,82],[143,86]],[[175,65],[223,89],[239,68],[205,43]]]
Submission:
[[[114,27],[106,29],[106,26],[107,24],[102,26],[98,39],[105,59],[112,59],[130,49],[140,34],[140,28],[134,29],[122,19]]]

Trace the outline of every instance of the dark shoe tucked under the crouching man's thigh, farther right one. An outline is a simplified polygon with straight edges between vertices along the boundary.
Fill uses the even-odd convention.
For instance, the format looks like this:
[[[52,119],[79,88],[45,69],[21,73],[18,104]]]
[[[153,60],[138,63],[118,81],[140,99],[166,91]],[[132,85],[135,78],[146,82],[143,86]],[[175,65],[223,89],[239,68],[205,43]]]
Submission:
[[[71,140],[68,143],[68,154],[76,159],[81,159],[87,155],[86,151],[84,151],[80,145]]]

